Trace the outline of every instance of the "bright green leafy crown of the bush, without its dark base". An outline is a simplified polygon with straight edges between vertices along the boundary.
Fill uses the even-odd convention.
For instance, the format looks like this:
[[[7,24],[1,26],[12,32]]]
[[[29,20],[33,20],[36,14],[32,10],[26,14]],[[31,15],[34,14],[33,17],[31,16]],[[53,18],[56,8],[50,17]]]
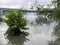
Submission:
[[[27,24],[27,20],[23,18],[22,10],[7,12],[5,17],[5,22],[9,27],[19,27],[24,29]]]

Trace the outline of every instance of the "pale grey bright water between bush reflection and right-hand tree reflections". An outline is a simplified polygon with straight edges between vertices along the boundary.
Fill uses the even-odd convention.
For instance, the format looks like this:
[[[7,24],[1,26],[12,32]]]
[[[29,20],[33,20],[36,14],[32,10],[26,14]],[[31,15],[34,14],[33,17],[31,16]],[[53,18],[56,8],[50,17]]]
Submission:
[[[51,37],[51,32],[54,28],[54,22],[50,26],[47,25],[30,25],[29,26],[29,37],[30,41],[25,43],[25,45],[48,45],[48,41],[54,39]]]

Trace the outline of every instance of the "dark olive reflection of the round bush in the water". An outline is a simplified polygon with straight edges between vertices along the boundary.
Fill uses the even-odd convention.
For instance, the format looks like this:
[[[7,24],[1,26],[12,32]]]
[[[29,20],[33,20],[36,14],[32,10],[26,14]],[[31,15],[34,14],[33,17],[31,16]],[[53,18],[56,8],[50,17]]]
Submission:
[[[7,35],[7,36],[6,36]],[[28,36],[27,32],[24,32],[24,34],[20,34],[20,35],[9,35],[8,31],[5,33],[6,39],[8,40],[8,45],[23,45],[24,42],[28,41],[28,39],[26,38],[26,36]]]

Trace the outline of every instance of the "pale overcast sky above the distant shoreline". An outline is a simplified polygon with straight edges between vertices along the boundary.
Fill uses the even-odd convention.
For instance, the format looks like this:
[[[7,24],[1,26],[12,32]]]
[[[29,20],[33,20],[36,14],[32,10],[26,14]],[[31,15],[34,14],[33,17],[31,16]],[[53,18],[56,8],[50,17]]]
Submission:
[[[0,7],[19,8],[22,5],[29,8],[36,0],[0,0]],[[41,5],[51,4],[51,0],[37,0]]]

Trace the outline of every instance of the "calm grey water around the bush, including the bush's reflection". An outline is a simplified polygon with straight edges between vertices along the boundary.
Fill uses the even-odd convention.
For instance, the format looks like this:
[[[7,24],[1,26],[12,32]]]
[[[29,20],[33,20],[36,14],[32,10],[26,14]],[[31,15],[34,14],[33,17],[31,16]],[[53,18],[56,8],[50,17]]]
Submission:
[[[48,17],[37,16],[36,13],[27,13],[24,16],[27,20],[26,30],[29,34],[10,36],[6,33],[8,26],[5,23],[0,24],[0,45],[49,45],[51,40],[55,40],[52,32],[56,22],[50,21]],[[6,33],[6,34],[5,34]]]

